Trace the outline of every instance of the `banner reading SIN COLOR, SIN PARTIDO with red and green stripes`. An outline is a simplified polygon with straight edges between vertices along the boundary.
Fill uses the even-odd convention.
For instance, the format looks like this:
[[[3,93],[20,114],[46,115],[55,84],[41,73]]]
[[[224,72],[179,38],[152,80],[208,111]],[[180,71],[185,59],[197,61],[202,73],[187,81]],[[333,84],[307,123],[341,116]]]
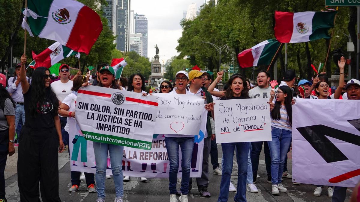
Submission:
[[[157,105],[154,96],[87,86],[78,90],[76,121],[87,140],[150,150]]]

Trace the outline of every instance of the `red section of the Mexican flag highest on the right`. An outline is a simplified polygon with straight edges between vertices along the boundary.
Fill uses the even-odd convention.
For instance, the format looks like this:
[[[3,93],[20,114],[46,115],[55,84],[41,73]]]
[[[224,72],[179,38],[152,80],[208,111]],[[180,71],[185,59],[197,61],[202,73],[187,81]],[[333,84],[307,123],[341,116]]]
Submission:
[[[275,11],[275,38],[280,43],[288,43],[291,40],[294,29],[294,13]]]

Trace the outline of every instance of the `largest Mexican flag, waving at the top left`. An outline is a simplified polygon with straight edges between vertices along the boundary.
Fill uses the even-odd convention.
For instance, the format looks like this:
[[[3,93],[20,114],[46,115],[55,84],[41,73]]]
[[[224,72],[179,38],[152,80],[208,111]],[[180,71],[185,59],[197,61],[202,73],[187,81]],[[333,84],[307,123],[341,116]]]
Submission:
[[[27,0],[27,5],[22,27],[31,36],[58,41],[77,52],[89,54],[103,29],[99,15],[75,0]]]

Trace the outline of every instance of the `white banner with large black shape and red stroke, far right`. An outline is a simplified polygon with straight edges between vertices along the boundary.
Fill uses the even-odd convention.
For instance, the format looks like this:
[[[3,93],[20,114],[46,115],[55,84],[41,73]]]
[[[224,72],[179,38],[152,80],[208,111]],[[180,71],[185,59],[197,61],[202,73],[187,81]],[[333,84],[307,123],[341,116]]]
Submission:
[[[292,127],[294,182],[355,187],[360,180],[360,101],[297,99]]]

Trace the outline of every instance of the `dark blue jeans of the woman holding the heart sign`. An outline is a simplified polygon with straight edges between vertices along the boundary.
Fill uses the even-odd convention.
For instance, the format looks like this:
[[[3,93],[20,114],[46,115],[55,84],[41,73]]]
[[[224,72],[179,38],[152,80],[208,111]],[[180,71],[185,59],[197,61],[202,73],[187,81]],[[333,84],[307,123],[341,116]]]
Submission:
[[[176,194],[177,172],[179,170],[179,146],[181,149],[181,193],[189,193],[190,164],[194,148],[194,137],[165,137],[167,156],[170,162],[169,190]]]

